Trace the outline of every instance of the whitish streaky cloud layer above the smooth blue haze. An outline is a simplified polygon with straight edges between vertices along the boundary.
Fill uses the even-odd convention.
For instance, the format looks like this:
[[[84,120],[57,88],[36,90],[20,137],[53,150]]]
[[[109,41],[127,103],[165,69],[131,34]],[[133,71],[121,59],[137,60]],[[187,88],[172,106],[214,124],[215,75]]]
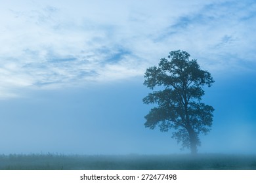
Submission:
[[[2,93],[142,76],[177,49],[216,71],[253,65],[255,6],[253,1],[6,1],[0,8]]]

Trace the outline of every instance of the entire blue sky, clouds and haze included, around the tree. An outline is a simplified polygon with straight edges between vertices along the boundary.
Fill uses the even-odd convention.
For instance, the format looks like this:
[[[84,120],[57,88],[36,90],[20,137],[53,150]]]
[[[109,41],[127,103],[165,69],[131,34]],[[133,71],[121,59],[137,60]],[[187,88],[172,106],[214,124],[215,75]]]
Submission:
[[[0,154],[188,153],[144,127],[144,73],[172,50],[215,80],[198,152],[256,154],[255,1],[3,0],[0,14]]]

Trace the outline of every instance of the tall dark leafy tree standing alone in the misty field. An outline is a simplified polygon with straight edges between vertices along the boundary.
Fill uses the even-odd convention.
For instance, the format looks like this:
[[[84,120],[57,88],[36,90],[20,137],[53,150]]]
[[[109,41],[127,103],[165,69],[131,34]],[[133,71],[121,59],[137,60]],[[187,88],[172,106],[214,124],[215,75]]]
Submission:
[[[211,74],[200,69],[196,59],[189,60],[187,52],[169,52],[169,59],[161,58],[159,67],[146,69],[144,85],[151,90],[143,103],[155,104],[145,116],[145,127],[160,131],[174,129],[172,138],[182,142],[196,154],[201,142],[200,133],[207,134],[213,121],[214,108],[202,103],[203,86],[210,87],[214,80]]]

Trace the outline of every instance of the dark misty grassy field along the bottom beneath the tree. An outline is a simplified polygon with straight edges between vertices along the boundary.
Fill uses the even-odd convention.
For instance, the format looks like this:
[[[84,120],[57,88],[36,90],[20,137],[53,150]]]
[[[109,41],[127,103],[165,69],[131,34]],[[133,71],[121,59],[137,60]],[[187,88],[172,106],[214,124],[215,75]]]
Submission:
[[[188,154],[66,156],[56,154],[1,155],[0,169],[14,170],[256,170],[256,155]]]

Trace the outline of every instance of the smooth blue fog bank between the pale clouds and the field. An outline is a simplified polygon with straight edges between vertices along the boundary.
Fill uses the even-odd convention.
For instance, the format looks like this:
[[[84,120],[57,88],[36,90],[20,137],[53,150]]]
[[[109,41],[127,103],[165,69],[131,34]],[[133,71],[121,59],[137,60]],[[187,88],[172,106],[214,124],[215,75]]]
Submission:
[[[199,153],[255,154],[255,81],[216,78],[203,101],[215,108]],[[0,104],[1,154],[176,154],[171,131],[144,127],[152,106],[142,78],[90,88],[26,91]],[[238,87],[243,83],[243,87]]]

